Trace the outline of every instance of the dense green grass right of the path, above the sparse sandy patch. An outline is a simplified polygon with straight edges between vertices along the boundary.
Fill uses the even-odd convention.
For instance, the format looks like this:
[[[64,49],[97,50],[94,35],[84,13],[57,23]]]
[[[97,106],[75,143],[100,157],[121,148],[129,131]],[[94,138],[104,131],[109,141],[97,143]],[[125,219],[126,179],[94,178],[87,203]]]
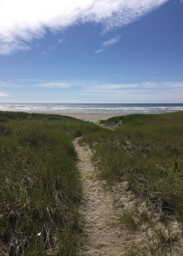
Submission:
[[[98,160],[98,177],[128,181],[150,208],[183,220],[183,112],[117,116],[119,124],[83,138]]]

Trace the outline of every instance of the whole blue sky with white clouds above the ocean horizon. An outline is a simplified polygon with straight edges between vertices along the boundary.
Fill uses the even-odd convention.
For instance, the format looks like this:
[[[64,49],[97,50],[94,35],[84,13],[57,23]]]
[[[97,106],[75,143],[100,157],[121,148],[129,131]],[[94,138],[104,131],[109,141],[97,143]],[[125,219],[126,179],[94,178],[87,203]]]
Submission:
[[[0,0],[0,103],[183,103],[183,0]]]

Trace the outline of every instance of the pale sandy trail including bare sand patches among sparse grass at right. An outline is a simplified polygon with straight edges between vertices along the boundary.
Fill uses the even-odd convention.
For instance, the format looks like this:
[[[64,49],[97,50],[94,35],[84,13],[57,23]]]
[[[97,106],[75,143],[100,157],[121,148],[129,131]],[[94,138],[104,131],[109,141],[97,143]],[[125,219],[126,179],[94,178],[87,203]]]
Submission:
[[[118,182],[112,189],[105,190],[102,181],[96,178],[96,169],[91,161],[92,152],[88,145],[78,144],[79,138],[74,140],[75,150],[78,154],[78,169],[81,172],[83,185],[83,197],[81,200],[80,214],[83,231],[86,234],[86,241],[83,243],[81,253],[85,255],[114,255],[122,256],[128,248],[138,244],[141,248],[146,248],[145,237],[147,231],[152,234],[148,221],[138,221],[138,228],[130,231],[128,227],[120,223],[119,216],[122,209],[134,209],[138,207],[138,214],[147,211],[141,197],[134,196],[129,190],[128,183]],[[156,212],[149,212],[151,219],[156,220],[156,225],[163,225]],[[172,230],[179,230],[178,222],[173,218],[171,220]],[[161,255],[172,254],[172,244],[164,246]],[[144,247],[145,246],[145,247]],[[151,255],[149,249],[144,251]]]

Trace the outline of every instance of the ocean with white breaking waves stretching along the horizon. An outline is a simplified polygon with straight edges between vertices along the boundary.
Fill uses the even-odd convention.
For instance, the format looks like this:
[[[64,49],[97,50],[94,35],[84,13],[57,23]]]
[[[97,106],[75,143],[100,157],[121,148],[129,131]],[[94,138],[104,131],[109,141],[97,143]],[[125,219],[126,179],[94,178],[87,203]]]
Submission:
[[[183,111],[183,104],[36,104],[0,103],[1,111],[37,113],[126,113],[160,114]]]

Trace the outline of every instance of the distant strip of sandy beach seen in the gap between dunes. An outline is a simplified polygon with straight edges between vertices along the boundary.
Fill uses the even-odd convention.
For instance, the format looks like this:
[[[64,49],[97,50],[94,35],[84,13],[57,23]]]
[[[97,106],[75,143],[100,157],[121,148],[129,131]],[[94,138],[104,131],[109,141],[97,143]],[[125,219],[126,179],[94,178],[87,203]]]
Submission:
[[[93,123],[97,123],[99,120],[102,120],[102,119],[106,120],[113,116],[128,115],[123,113],[46,113],[46,114],[66,115],[66,116],[75,117],[75,118],[82,119],[84,121],[93,122]]]

